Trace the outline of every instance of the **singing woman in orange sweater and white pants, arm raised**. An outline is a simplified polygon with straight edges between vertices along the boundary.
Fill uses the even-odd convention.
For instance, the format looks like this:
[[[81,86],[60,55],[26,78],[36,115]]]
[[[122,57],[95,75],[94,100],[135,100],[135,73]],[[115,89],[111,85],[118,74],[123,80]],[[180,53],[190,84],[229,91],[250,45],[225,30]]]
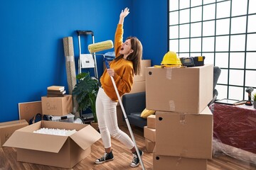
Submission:
[[[129,37],[123,42],[124,18],[129,14],[129,8],[122,10],[114,37],[115,59],[110,63],[110,69],[106,69],[100,78],[101,87],[96,99],[96,113],[100,135],[105,147],[105,154],[95,161],[96,164],[112,161],[114,155],[111,149],[111,136],[122,142],[132,151],[132,167],[139,166],[139,157],[134,147],[134,142],[117,125],[117,94],[114,91],[111,78],[119,91],[119,96],[132,90],[134,74],[141,72],[142,43],[135,37]],[[143,152],[139,150],[139,154]]]

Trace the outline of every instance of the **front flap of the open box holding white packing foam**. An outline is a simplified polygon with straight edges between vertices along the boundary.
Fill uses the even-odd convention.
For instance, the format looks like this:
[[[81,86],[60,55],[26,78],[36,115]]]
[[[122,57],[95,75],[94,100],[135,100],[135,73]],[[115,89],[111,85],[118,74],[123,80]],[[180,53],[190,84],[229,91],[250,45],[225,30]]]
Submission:
[[[16,130],[3,146],[58,153],[67,139],[68,136],[43,135]]]

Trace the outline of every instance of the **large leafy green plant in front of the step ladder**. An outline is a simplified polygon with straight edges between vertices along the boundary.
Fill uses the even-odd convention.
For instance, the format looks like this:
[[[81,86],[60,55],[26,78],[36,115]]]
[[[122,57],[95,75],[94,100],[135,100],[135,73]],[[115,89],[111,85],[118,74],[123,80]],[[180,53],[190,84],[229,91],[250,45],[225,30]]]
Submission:
[[[75,88],[73,89],[72,94],[78,101],[78,109],[80,111],[86,111],[89,108],[90,111],[92,111],[94,123],[97,123],[95,101],[97,91],[100,87],[99,81],[95,78],[90,77],[89,72],[82,72],[78,74],[76,78],[78,79],[78,83],[75,84]]]

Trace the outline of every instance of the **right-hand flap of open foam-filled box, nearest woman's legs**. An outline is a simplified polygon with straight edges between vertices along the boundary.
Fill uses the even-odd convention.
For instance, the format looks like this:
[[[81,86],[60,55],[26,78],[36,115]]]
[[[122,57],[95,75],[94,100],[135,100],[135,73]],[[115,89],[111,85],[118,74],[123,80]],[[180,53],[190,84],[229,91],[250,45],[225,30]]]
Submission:
[[[91,125],[87,125],[70,137],[84,150],[101,138],[100,133]]]

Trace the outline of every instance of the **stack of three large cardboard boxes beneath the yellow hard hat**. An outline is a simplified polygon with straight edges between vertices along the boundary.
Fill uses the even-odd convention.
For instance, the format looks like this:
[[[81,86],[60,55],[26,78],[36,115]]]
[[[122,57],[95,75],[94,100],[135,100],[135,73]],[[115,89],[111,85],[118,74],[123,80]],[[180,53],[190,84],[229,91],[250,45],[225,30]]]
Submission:
[[[206,169],[212,158],[212,98],[212,64],[146,68],[146,108],[156,111],[155,170]]]

